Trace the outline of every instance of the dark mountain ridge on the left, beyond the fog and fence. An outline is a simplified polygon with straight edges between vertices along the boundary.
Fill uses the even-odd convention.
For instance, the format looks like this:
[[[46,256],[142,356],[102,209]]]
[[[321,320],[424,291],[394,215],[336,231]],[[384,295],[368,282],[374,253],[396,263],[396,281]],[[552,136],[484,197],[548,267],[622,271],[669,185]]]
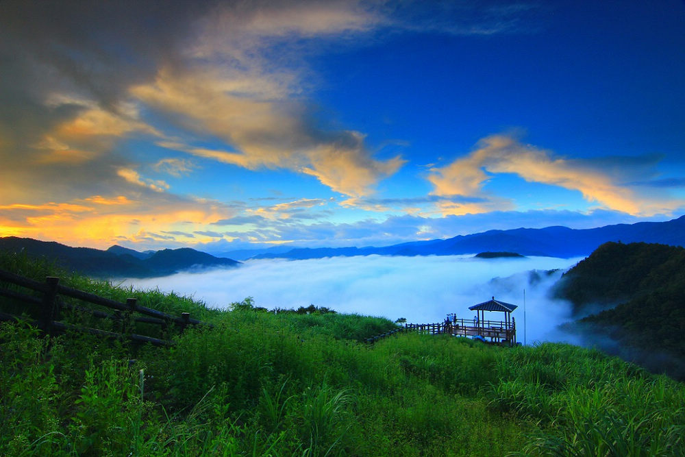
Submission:
[[[139,252],[114,245],[102,251],[16,236],[0,238],[0,249],[23,251],[29,257],[54,260],[65,269],[95,277],[165,276],[197,267],[236,267],[240,264],[236,260],[214,257],[189,247]]]

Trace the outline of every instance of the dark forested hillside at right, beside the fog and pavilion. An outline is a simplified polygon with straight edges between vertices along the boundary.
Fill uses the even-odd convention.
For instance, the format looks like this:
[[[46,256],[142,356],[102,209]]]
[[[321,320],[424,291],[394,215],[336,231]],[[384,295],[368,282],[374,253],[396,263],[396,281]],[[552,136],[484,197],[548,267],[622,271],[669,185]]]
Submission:
[[[577,314],[595,311],[569,327],[590,343],[685,379],[684,248],[606,243],[564,275],[557,293]]]

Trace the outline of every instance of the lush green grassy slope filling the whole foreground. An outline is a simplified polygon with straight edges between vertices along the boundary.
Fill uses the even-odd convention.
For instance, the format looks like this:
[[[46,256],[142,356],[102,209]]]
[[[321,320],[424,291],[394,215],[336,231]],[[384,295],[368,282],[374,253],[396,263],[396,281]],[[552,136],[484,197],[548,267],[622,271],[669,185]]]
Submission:
[[[0,260],[0,268],[53,274],[49,265]],[[69,282],[116,299],[132,294],[83,277]],[[26,325],[2,325],[1,454],[685,450],[683,384],[598,351],[553,344],[507,349],[420,334],[367,347],[356,340],[393,323],[256,312],[249,302],[227,312],[175,295],[135,295],[215,327],[189,330],[169,350],[90,336],[36,338]]]

